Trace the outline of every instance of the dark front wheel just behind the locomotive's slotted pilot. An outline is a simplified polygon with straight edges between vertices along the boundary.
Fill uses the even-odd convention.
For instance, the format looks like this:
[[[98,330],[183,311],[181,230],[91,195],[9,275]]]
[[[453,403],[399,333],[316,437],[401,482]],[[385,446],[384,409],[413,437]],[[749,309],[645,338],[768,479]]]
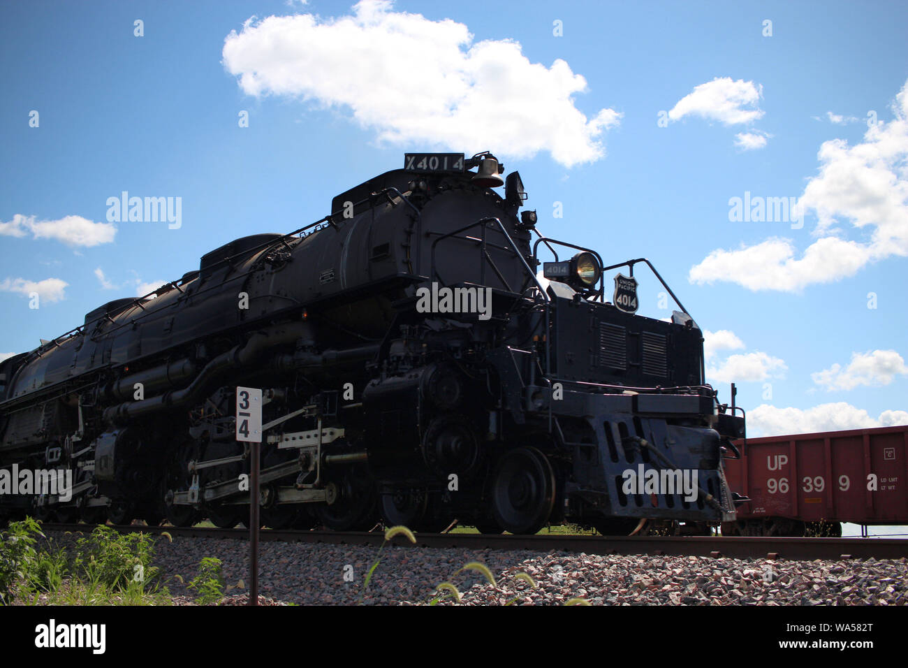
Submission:
[[[555,474],[545,454],[518,448],[498,463],[492,488],[492,514],[510,533],[537,533],[555,507]]]

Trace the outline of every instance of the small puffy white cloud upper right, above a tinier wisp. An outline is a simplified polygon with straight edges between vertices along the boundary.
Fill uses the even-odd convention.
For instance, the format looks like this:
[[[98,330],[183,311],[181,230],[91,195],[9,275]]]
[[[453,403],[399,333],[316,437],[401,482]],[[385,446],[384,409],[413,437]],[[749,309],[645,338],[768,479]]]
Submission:
[[[687,115],[695,115],[724,125],[751,123],[765,114],[757,107],[762,95],[763,86],[753,81],[716,77],[678,100],[668,112],[668,118],[678,121]]]

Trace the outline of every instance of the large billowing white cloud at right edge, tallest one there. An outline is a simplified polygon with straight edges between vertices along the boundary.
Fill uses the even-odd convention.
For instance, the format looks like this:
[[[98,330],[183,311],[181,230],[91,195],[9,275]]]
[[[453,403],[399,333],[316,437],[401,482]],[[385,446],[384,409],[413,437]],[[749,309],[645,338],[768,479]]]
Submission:
[[[800,257],[791,240],[771,238],[713,251],[691,268],[688,280],[798,292],[853,276],[870,262],[908,255],[908,82],[896,96],[893,114],[889,123],[868,128],[860,144],[834,139],[821,145],[819,174],[798,201],[801,211],[816,215],[819,238]],[[842,238],[835,225],[844,220],[866,240]]]

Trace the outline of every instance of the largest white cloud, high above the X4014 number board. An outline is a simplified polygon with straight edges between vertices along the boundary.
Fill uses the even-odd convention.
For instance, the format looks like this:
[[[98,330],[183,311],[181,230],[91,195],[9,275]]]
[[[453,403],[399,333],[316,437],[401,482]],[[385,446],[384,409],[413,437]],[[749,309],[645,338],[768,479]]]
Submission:
[[[249,19],[224,40],[223,65],[247,95],[284,95],[349,109],[379,141],[529,157],[561,165],[605,155],[621,114],[591,118],[587,90],[567,62],[531,63],[513,40],[474,42],[467,25],[392,11],[363,0],[352,15]]]

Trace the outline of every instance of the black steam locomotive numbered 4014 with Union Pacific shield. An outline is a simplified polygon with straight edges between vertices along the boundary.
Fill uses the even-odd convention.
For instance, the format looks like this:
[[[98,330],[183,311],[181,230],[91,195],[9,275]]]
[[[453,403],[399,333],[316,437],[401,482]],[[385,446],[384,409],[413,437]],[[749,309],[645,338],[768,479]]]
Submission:
[[[680,303],[637,315],[636,265],[672,294],[655,268],[540,236],[499,174],[489,154],[408,154],[321,221],[225,244],[5,360],[0,474],[71,483],[7,489],[0,515],[242,521],[243,385],[263,388],[272,527],[733,519],[722,451],[744,420],[704,383],[699,328]]]

